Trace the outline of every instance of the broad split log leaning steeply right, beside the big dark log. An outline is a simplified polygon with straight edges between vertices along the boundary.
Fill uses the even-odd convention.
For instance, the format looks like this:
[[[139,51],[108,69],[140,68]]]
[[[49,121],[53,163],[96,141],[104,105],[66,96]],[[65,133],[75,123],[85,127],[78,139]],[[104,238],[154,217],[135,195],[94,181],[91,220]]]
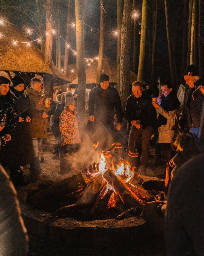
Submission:
[[[98,196],[106,186],[106,181],[101,174],[98,174],[94,180],[84,189],[83,193],[77,199],[76,204],[89,204],[93,206]]]

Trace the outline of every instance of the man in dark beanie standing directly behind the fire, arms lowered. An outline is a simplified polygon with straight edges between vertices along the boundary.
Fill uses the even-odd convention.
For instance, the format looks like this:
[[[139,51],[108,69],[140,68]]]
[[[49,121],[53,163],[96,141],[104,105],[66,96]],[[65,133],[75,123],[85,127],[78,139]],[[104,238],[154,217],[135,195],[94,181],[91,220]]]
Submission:
[[[114,138],[114,114],[117,114],[117,130],[121,128],[122,111],[120,96],[116,88],[109,86],[109,76],[102,74],[99,84],[89,93],[89,120],[94,122],[95,139],[106,149]],[[107,130],[107,131],[106,131]]]

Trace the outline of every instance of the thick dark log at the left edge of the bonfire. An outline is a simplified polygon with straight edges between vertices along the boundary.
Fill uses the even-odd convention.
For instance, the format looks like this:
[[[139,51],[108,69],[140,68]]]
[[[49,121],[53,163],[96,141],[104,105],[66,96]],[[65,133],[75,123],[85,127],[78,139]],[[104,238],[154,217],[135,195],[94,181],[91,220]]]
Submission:
[[[79,172],[36,193],[31,197],[31,201],[37,209],[49,210],[51,208],[53,211],[60,202],[66,200],[68,194],[86,187],[86,182]]]

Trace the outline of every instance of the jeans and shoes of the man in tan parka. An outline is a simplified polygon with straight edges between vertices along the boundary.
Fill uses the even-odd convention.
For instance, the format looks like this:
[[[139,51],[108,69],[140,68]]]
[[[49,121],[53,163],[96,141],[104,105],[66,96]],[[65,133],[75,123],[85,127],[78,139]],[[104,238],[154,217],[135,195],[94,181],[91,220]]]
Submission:
[[[33,159],[33,163],[30,164],[31,178],[34,178],[36,175],[42,172],[40,167],[39,156],[38,156],[39,148],[42,148],[42,140],[43,138],[32,138],[34,159]]]

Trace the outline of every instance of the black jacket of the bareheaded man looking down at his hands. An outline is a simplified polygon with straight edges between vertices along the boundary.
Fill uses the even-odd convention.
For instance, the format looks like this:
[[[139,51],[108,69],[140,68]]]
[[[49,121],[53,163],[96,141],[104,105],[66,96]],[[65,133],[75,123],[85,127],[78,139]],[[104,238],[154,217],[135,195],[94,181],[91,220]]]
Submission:
[[[134,94],[130,95],[126,103],[125,116],[129,123],[133,120],[140,121],[143,129],[148,126],[155,127],[156,110],[152,106],[152,97],[144,92],[139,98]]]

